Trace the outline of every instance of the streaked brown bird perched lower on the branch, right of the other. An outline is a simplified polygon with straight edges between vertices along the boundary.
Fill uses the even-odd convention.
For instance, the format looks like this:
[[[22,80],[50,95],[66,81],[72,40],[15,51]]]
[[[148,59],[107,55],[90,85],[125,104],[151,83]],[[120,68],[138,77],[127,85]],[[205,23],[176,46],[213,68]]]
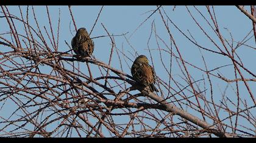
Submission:
[[[151,92],[158,92],[154,85],[156,79],[155,70],[149,65],[149,60],[146,56],[138,56],[133,62],[130,71],[135,81],[139,82],[141,85],[149,86]]]

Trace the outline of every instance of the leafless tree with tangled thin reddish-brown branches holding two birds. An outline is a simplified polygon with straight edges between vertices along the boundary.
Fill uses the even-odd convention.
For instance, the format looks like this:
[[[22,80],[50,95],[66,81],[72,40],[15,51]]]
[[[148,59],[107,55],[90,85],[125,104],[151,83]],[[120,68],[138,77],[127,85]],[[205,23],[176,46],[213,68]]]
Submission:
[[[71,16],[71,25],[77,30],[72,8],[69,6],[66,10]],[[204,46],[202,40],[196,38],[197,33],[182,30],[169,17],[169,8],[157,6],[150,11],[138,28],[154,15],[161,19],[168,35],[166,41],[159,35],[155,22],[151,22],[146,50],[152,66],[156,67],[154,61],[159,58],[157,66],[162,67],[162,73],[168,77],[158,75],[160,92],[152,93],[135,82],[129,70],[124,70],[130,68],[138,55],[127,33],[112,35],[101,24],[105,35],[93,39],[110,39],[108,61],[94,56],[77,59],[68,42],[71,39],[65,41],[69,50],[59,50],[60,11],[59,19],[54,19],[58,21],[54,31],[48,6],[45,13],[50,29],[39,26],[33,6],[27,6],[26,10],[17,7],[20,15],[13,15],[8,7],[1,6],[0,18],[7,24],[1,27],[9,27],[10,31],[0,33],[0,136],[255,137],[256,75],[252,70],[255,65],[244,64],[244,56],[238,52],[240,47],[251,52],[256,50],[255,45],[247,44],[250,40],[256,42],[255,7],[246,10],[247,7],[237,6],[237,10],[252,21],[251,31],[241,41],[233,39],[231,32],[229,37],[223,36],[215,7],[205,6],[204,12],[202,7],[185,8],[212,46]],[[103,6],[99,8],[90,35],[99,24],[102,10]],[[196,47],[200,54],[195,56],[202,66],[186,60],[174,31]],[[118,48],[121,45],[116,45],[116,36],[124,38],[133,53]],[[157,47],[152,47],[152,41]],[[229,59],[229,63],[219,63],[212,68],[207,55]],[[118,57],[119,65],[112,65],[113,56]],[[172,74],[174,66],[180,71],[179,75]],[[229,70],[232,76],[222,73],[224,70]],[[198,79],[194,72],[202,77]],[[216,84],[226,86],[223,90],[216,88]],[[10,112],[6,113],[7,109]]]

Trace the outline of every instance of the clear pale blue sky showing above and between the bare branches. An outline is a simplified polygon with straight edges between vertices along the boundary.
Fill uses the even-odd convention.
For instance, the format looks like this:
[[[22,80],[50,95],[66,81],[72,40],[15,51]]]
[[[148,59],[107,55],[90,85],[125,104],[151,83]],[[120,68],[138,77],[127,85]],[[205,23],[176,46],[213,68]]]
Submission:
[[[43,26],[46,26],[46,29],[49,30],[50,27],[49,27],[48,16],[46,13],[46,7],[34,6],[34,8],[38,18],[38,23],[40,25],[40,28],[43,29]],[[154,30],[150,38],[151,29],[153,26],[155,27],[157,35],[160,36],[160,38],[162,38],[163,41],[165,41],[168,46],[171,45],[168,32],[165,28],[165,25],[163,24],[161,16],[159,15],[158,12],[155,12],[154,15],[152,15],[147,21],[145,21],[141,25],[141,23],[145,19],[147,19],[148,16],[151,15],[151,13],[154,12],[156,8],[157,7],[154,5],[104,6],[101,12],[101,15],[99,16],[98,22],[96,23],[93,29],[93,32],[91,33],[91,37],[107,35],[107,33],[104,30],[104,27],[102,27],[102,24],[105,26],[105,28],[107,28],[110,35],[112,34],[122,35],[124,33],[129,32],[126,35],[126,38],[128,39],[129,43],[126,41],[126,38],[124,38],[124,36],[115,36],[116,48],[118,48],[119,50],[123,50],[124,53],[126,53],[126,56],[128,56],[129,59],[132,61],[135,59],[134,57],[135,52],[133,51],[132,47],[135,48],[135,50],[137,50],[138,55],[146,55],[148,56],[148,58],[150,57],[148,48],[150,48],[152,52],[153,63],[154,63],[157,76],[163,79],[164,81],[168,82],[168,79],[169,79],[168,74],[163,68],[163,65],[159,64],[161,62],[160,61],[161,59],[159,56],[159,50],[157,50],[158,48],[155,40]],[[180,30],[182,30],[185,34],[188,35],[188,31],[189,31],[202,47],[218,51],[215,45],[213,45],[212,42],[205,37],[204,33],[200,30],[200,28],[197,27],[196,23],[191,18],[185,6],[178,5],[174,10],[173,10],[174,8],[173,6],[163,6],[163,8],[165,9],[166,13],[168,13],[169,18],[171,18],[171,20],[176,25],[178,25]],[[213,40],[216,41],[218,45],[221,45],[221,41],[218,40],[215,33],[213,33],[212,29],[207,25],[207,23],[202,18],[202,16],[198,12],[196,12],[196,10],[192,6],[188,6],[188,8],[191,10],[191,13],[193,14],[194,18],[197,19],[197,22],[202,24],[202,27],[213,38]],[[205,6],[197,6],[197,8],[201,10],[201,12],[207,16],[208,21],[210,21],[210,17],[207,13],[207,8]],[[23,10],[23,15],[25,15],[26,6],[22,6],[21,9]],[[97,6],[97,5],[72,6],[71,9],[73,11],[77,28],[85,27],[87,28],[88,32],[90,32],[98,16],[99,10],[101,9],[101,6]],[[10,10],[10,13],[12,13],[13,15],[20,16],[20,11],[17,6],[10,6],[9,10]],[[58,50],[60,52],[66,52],[69,50],[69,48],[65,44],[65,41],[69,42],[69,45],[71,45],[71,39],[76,34],[76,32],[74,30],[74,25],[73,25],[71,16],[69,14],[68,6],[49,6],[49,13],[51,13],[51,20],[52,20],[51,22],[52,22],[55,38],[57,37],[59,10],[60,10],[60,33],[59,33],[59,49]],[[232,38],[236,42],[241,41],[252,30],[251,20],[247,18],[243,13],[241,13],[240,10],[238,10],[238,8],[236,8],[235,6],[215,6],[215,14],[216,14],[216,18],[219,25],[219,30],[221,31],[222,36],[224,36],[224,38],[226,38],[229,41],[231,41]],[[29,19],[30,19],[30,24],[35,26],[31,7],[30,7]],[[172,35],[174,36],[176,44],[179,47],[180,53],[182,53],[183,59],[185,61],[189,61],[191,64],[196,65],[197,67],[205,69],[204,62],[202,61],[199,48],[196,47],[196,45],[192,44],[190,41],[188,41],[188,39],[185,38],[185,36],[183,36],[182,33],[180,33],[179,30],[177,30],[174,27],[174,25],[172,25],[166,17],[165,17],[165,20],[169,24],[168,26],[171,30]],[[9,31],[9,27],[5,26],[7,25],[6,19],[1,18],[0,25],[1,25],[0,33],[5,33]],[[20,30],[24,32],[23,26],[20,26],[18,28],[20,28]],[[232,37],[230,36],[229,32],[232,34]],[[252,34],[253,33],[251,33],[250,36],[252,36]],[[95,58],[100,59],[101,61],[104,61],[105,63],[107,63],[110,50],[112,48],[110,38],[106,36],[102,38],[93,39],[93,41],[95,44],[93,55],[95,56]],[[160,41],[160,39],[158,39],[158,42],[160,44],[160,48],[163,48],[166,50],[168,49],[165,46],[165,44],[163,44],[163,42]],[[236,42],[234,42],[233,44],[236,45],[237,44]],[[254,37],[249,39],[249,41],[247,41],[246,44],[251,45],[252,47],[255,47]],[[204,55],[205,62],[207,63],[207,66],[208,66],[208,70],[214,69],[216,67],[220,67],[222,65],[232,64],[230,59],[227,57],[216,55],[205,50],[201,50],[201,52]],[[238,48],[236,52],[238,53],[241,60],[243,61],[244,67],[248,68],[253,73],[256,73],[256,66],[254,62],[256,60],[256,56],[255,56],[256,51],[252,48],[242,45],[240,48]],[[174,50],[174,53],[177,55],[176,50]],[[170,61],[169,54],[166,52],[162,52],[162,56],[164,59],[163,61],[165,62],[167,67],[169,67],[169,61]],[[123,61],[123,71],[130,75],[129,67],[132,65],[132,61],[130,61],[124,56],[121,56],[121,57]],[[127,63],[129,65],[127,65],[126,62],[124,62],[124,58],[126,58]],[[121,69],[119,66],[118,56],[116,55],[116,53],[113,56],[111,65],[114,68]],[[151,62],[151,65],[152,65],[152,62]],[[65,66],[68,67],[68,65],[65,65]],[[205,79],[207,78],[205,73],[203,73],[202,71],[199,71],[196,68],[191,67],[190,65],[187,65],[187,67],[194,81],[197,81],[202,78],[205,78]],[[85,68],[84,64],[80,64],[80,68],[85,73],[88,73],[87,68]],[[92,66],[92,69],[95,70],[94,75],[97,76],[96,70],[98,69],[98,67]],[[44,70],[45,72],[47,72],[47,69],[44,69]],[[172,70],[171,74],[173,78],[179,81],[181,84],[186,85],[185,81],[183,81],[182,78],[180,78],[180,76],[183,77],[183,75],[179,69],[179,65],[177,65],[176,59],[172,59],[171,70]],[[244,70],[242,71],[245,78],[252,78],[252,76],[246,73]],[[235,75],[233,72],[233,65],[220,68],[214,73],[215,74],[220,73],[228,79],[235,78]],[[226,91],[227,97],[230,98],[232,101],[236,101],[235,91],[232,89],[235,87],[235,82],[227,84],[226,82],[218,78],[213,77],[211,79],[212,79],[213,89],[214,89],[213,97],[216,103],[219,103],[221,101],[221,93],[224,92],[227,85],[228,85],[227,91]],[[256,93],[255,82],[248,82],[248,84],[249,84],[249,87],[251,88],[252,93],[255,94]],[[246,100],[248,107],[251,107],[252,105],[254,105],[254,103],[252,102],[251,98],[249,98],[248,91],[244,87],[243,82],[239,82],[239,85],[241,86],[240,96],[242,100]],[[177,88],[173,82],[171,82],[171,86],[174,88]],[[201,88],[204,87],[204,82],[200,84],[200,87]],[[208,82],[205,83],[205,88],[207,88],[207,90],[205,91],[206,98],[210,99],[210,90],[209,90],[210,87]],[[116,91],[118,91],[118,89],[116,89]],[[174,94],[175,92],[171,91],[171,93]],[[179,99],[180,97],[177,97],[177,98]],[[233,108],[234,111],[236,110],[236,108],[232,107],[232,105],[230,105],[230,108]],[[241,108],[244,108],[243,105],[241,105]],[[6,114],[8,115],[9,111],[8,110],[6,111],[7,111]],[[200,114],[198,112],[195,112],[194,110],[188,109],[188,111],[190,111],[194,115],[200,116]],[[256,115],[255,108],[252,110],[252,113]],[[221,111],[219,115],[222,118],[229,116],[225,111]],[[126,119],[126,118],[122,118],[122,119]],[[119,121],[123,122],[124,120],[120,119]],[[248,122],[244,121],[244,119],[241,119],[240,121],[244,122],[245,126],[249,126]]]

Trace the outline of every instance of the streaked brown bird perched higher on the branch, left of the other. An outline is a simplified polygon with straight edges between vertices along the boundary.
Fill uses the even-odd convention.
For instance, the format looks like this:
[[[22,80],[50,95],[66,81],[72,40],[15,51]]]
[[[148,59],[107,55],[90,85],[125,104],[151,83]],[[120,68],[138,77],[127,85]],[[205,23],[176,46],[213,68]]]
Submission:
[[[89,37],[86,28],[79,28],[71,41],[72,48],[77,56],[82,58],[90,56],[94,50],[94,42]]]

